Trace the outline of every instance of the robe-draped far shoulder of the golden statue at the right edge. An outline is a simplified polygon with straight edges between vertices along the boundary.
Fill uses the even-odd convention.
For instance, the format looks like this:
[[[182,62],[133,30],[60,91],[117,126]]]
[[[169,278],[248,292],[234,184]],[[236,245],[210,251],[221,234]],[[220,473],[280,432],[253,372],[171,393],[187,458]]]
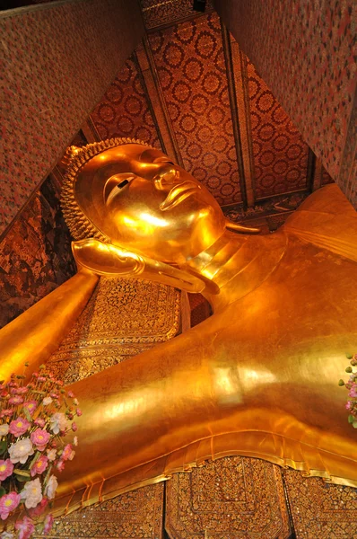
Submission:
[[[286,220],[283,229],[357,261],[357,212],[335,184],[310,195]]]

